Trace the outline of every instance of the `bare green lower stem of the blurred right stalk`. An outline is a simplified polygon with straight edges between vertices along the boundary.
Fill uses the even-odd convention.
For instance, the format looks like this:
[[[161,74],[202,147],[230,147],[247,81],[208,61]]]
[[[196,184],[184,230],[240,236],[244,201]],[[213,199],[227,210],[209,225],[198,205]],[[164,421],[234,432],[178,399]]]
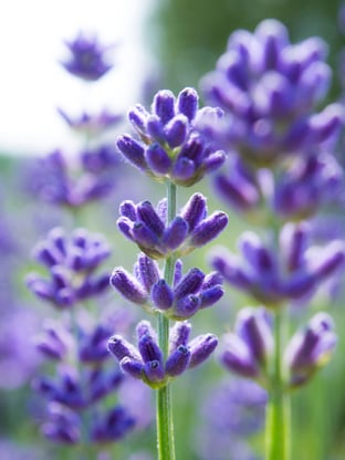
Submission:
[[[284,309],[274,315],[274,360],[266,409],[266,460],[290,459],[290,395],[282,366],[283,338],[288,325]]]

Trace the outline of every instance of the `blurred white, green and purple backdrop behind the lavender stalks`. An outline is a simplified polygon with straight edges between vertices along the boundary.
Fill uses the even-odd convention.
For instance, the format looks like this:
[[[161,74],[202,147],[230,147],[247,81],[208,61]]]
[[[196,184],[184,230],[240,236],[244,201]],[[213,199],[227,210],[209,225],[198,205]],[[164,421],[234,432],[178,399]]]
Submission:
[[[45,366],[33,347],[33,337],[46,317],[56,312],[28,291],[25,275],[36,270],[32,248],[54,226],[73,228],[75,216],[66,208],[42,200],[40,160],[54,149],[75,158],[81,137],[61,116],[80,111],[107,109],[123,116],[106,133],[111,144],[118,133],[129,130],[127,108],[139,102],[148,105],[159,88],[177,94],[185,86],[198,88],[200,79],[215,67],[226,50],[227,40],[237,29],[253,31],[266,18],[281,20],[290,31],[291,42],[317,35],[328,45],[333,86],[330,101],[343,98],[341,55],[345,46],[343,4],[334,0],[11,0],[0,6],[0,459],[76,459],[72,448],[44,440],[39,425],[42,401],[32,390],[32,379]],[[344,17],[342,19],[342,15]],[[82,84],[61,65],[66,56],[65,42],[86,31],[112,43],[113,69],[96,84]],[[345,153],[339,151],[339,158]],[[77,224],[102,232],[112,247],[107,262],[111,270],[122,264],[127,270],[136,260],[136,248],[124,241],[116,229],[118,205],[123,199],[150,199],[157,202],[165,190],[149,184],[130,166],[118,163],[114,190],[103,200],[83,209]],[[130,187],[128,187],[130,184]],[[133,186],[132,186],[133,184]],[[182,190],[184,203],[197,190],[205,192],[210,211],[223,205],[211,195],[208,180]],[[228,211],[228,210],[227,210]],[[230,229],[219,243],[229,249],[244,223],[230,216]],[[186,258],[187,266],[209,270],[208,249]],[[109,293],[109,309],[126,307],[136,320],[140,312],[133,305],[118,306]],[[219,307],[194,321],[195,334],[220,335],[233,324],[236,312],[245,297],[230,289]],[[345,334],[344,305],[341,297],[333,305],[320,299],[314,307],[331,310],[336,320],[339,344],[331,364],[293,399],[293,457],[299,460],[342,460],[345,458]],[[327,300],[328,302],[328,300]],[[215,313],[216,312],[216,313]],[[311,311],[305,312],[309,317]],[[263,447],[262,398],[238,404],[239,387],[216,360],[186,374],[174,384],[177,458],[188,460],[260,459]],[[226,388],[226,389],[224,389]],[[224,418],[219,432],[215,429],[220,394]],[[192,397],[191,397],[192,395]],[[224,396],[226,395],[226,396]],[[231,396],[232,395],[232,396]],[[130,396],[127,395],[130,398]],[[228,399],[227,399],[228,398]],[[229,405],[229,411],[224,407]],[[231,435],[231,410],[244,410],[251,429]],[[147,409],[143,406],[143,410]],[[251,415],[251,418],[250,418]],[[142,429],[115,443],[112,457],[146,460],[155,458],[154,414]],[[219,420],[218,420],[219,421]],[[213,425],[212,425],[213,424]],[[216,420],[217,425],[217,420]],[[229,428],[230,427],[230,428]],[[219,438],[218,438],[219,436]],[[220,453],[210,457],[217,439]],[[48,457],[49,456],[49,457]],[[212,456],[212,453],[211,453]],[[81,457],[83,458],[83,457]],[[97,458],[96,454],[93,458]]]

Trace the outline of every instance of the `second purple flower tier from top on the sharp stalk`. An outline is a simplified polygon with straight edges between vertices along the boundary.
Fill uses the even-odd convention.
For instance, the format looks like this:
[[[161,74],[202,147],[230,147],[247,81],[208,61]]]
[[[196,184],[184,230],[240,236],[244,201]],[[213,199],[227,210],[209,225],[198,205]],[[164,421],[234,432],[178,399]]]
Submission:
[[[217,238],[228,223],[222,211],[207,216],[206,201],[201,194],[194,194],[167,224],[166,200],[157,209],[149,201],[135,205],[127,200],[119,207],[117,227],[151,259],[165,259],[172,253],[180,257]]]

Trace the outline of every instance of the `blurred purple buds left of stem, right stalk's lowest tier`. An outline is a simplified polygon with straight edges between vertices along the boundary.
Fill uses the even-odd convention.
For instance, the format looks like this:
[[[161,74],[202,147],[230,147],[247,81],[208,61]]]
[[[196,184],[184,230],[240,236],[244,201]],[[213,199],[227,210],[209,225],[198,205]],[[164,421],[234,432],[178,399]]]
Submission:
[[[234,332],[224,336],[222,365],[241,377],[265,385],[273,336],[264,309],[242,309]]]

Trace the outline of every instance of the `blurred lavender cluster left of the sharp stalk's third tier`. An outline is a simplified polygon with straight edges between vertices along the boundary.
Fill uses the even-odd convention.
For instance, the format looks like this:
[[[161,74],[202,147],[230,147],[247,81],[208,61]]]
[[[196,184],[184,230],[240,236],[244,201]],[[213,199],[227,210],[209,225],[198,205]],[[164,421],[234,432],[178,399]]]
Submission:
[[[34,255],[49,270],[50,280],[31,273],[27,278],[28,286],[58,309],[70,309],[108,286],[108,273],[95,273],[109,255],[101,234],[76,229],[69,238],[62,229],[55,228],[36,245]]]

